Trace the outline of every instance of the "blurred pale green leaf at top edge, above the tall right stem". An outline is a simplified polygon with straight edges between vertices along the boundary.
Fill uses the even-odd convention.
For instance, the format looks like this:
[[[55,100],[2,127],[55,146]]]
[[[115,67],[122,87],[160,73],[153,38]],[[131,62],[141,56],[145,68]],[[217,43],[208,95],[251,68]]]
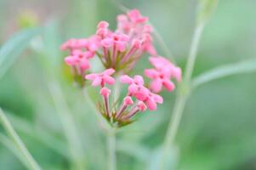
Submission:
[[[213,14],[218,0],[198,0],[197,24],[201,25]]]

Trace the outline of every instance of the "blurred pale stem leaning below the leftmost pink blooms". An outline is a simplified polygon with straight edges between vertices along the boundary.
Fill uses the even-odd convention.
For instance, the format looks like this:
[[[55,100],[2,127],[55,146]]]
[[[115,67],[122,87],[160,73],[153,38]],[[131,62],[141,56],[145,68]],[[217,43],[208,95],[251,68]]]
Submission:
[[[75,166],[74,169],[83,170],[85,169],[84,154],[82,151],[81,140],[77,133],[77,127],[67,104],[65,102],[65,96],[60,90],[60,86],[57,82],[52,82],[49,85],[50,93],[54,99],[54,105],[56,107],[57,113],[60,116],[60,122],[64,128],[65,138],[69,144],[69,149],[71,152],[72,163]]]

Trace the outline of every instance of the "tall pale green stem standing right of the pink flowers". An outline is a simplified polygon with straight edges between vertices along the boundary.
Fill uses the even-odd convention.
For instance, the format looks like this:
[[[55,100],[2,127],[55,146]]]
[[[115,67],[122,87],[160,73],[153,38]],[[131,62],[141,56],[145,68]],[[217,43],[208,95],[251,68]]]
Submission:
[[[202,36],[203,27],[204,25],[200,24],[196,26],[196,29],[194,31],[194,35],[191,42],[191,49],[190,49],[187,65],[185,68],[185,80],[183,82],[180,82],[179,84],[180,88],[175,101],[174,112],[171,117],[171,121],[168,124],[168,130],[163,143],[162,161],[160,164],[160,169],[163,169],[165,167],[165,162],[167,159],[167,151],[174,144],[174,139],[178,132],[179,123],[185,108],[185,103],[191,92],[191,76],[192,76],[192,72],[195,65],[197,48],[198,48],[200,38]]]

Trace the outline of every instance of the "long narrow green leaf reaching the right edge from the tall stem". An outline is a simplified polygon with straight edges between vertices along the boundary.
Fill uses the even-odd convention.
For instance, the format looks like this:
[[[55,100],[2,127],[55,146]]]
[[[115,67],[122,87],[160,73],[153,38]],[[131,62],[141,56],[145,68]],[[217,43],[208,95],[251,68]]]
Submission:
[[[222,65],[211,71],[202,73],[202,75],[194,78],[192,81],[192,88],[196,88],[203,83],[211,82],[221,77],[227,77],[230,75],[250,73],[256,71],[256,59],[249,59],[239,63]]]

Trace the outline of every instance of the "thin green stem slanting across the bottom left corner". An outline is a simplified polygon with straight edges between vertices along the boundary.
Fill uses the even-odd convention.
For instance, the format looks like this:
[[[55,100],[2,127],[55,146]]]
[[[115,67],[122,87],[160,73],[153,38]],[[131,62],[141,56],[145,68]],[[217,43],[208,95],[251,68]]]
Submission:
[[[8,118],[4,115],[2,109],[0,108],[0,121],[3,124],[3,127],[9,133],[9,137],[14,141],[17,149],[20,150],[20,153],[26,159],[31,170],[40,170],[41,167],[37,164],[37,161],[31,156],[30,152],[26,149],[26,145],[22,142],[19,135],[15,132],[14,127],[9,122]]]

